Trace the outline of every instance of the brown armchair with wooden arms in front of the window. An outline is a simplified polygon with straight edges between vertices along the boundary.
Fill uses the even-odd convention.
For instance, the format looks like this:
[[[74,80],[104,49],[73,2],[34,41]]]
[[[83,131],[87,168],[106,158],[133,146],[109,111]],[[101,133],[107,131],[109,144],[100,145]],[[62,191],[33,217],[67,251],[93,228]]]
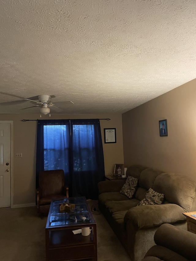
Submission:
[[[68,187],[64,185],[64,171],[40,171],[39,188],[36,189],[36,196],[39,215],[48,213],[52,199],[68,198]]]

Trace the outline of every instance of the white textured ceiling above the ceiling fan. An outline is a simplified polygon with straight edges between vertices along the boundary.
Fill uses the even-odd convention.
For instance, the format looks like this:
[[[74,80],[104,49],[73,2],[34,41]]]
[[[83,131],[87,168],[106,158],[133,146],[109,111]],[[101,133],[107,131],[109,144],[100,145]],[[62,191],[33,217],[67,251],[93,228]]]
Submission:
[[[0,113],[123,113],[196,78],[190,0],[1,0]],[[15,95],[15,96],[14,96]],[[51,111],[52,112],[52,111]]]

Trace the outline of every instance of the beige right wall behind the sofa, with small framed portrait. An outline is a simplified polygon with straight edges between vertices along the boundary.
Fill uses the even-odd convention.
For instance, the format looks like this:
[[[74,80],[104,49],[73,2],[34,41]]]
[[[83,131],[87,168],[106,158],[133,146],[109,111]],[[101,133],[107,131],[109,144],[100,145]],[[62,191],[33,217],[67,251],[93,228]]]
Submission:
[[[167,119],[168,136],[159,135]],[[122,115],[125,166],[141,164],[196,181],[196,79]]]

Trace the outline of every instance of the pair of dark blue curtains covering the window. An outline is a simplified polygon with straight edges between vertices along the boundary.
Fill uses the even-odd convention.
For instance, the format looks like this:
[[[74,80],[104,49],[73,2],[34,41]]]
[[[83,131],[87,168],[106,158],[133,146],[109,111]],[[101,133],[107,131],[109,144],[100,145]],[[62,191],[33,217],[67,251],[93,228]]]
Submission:
[[[97,184],[105,180],[99,119],[38,120],[36,188],[39,172],[54,169],[64,170],[69,196],[98,198]]]

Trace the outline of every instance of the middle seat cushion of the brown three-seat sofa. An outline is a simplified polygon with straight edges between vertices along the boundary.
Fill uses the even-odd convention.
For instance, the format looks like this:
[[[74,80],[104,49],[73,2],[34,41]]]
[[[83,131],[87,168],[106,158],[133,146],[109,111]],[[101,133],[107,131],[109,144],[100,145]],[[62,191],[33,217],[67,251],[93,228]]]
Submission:
[[[107,201],[105,203],[105,206],[108,208],[108,210],[111,213],[117,212],[117,211],[124,211],[129,210],[132,207],[136,207],[138,204],[137,199],[131,199],[131,200],[121,200],[121,201]]]

